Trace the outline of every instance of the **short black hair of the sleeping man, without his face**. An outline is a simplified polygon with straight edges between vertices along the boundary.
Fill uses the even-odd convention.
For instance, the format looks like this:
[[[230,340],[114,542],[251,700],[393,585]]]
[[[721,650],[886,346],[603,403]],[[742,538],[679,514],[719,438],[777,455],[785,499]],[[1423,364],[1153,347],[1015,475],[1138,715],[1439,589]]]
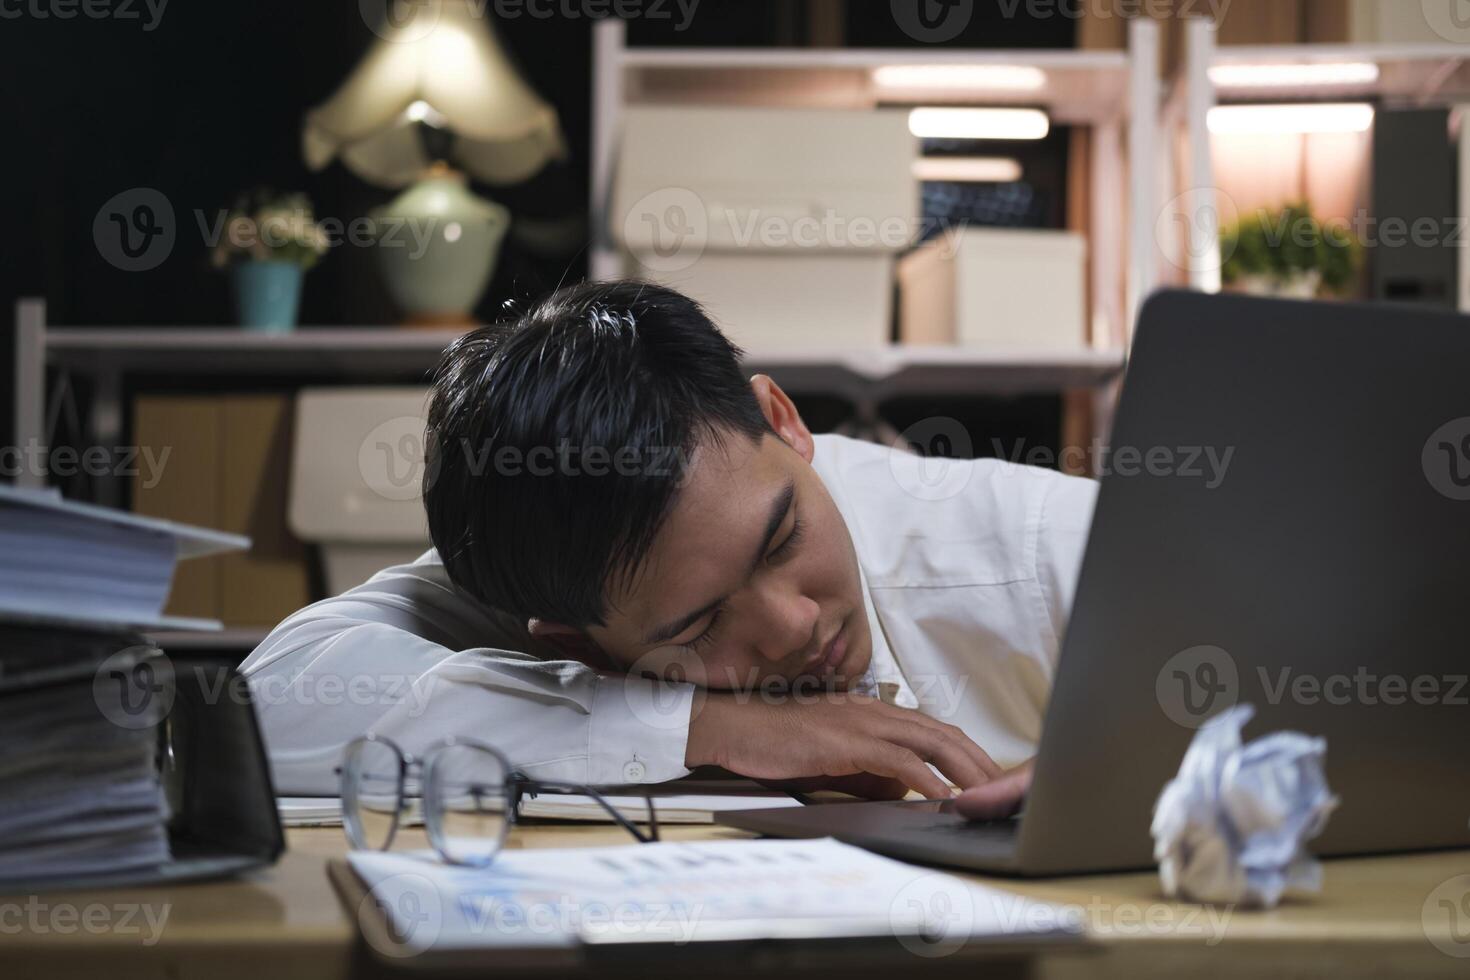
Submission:
[[[638,281],[557,289],[451,344],[423,478],[450,580],[507,613],[604,624],[695,445],[770,430],[741,354],[698,303]]]

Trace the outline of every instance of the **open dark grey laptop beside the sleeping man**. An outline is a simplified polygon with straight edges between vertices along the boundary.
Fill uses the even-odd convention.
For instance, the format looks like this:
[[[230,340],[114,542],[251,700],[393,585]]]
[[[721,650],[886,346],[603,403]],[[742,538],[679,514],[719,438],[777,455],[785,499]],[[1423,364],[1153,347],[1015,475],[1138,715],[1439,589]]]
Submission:
[[[1327,741],[1342,804],[1316,854],[1470,846],[1470,317],[1154,294],[1110,442],[1019,818],[719,823],[992,873],[1152,867],[1195,729],[1250,702],[1247,739]]]

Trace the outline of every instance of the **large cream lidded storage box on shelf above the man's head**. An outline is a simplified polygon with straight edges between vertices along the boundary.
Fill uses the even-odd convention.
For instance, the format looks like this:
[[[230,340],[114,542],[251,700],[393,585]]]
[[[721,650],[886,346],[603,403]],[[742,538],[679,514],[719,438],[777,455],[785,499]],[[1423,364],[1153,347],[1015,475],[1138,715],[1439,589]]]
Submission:
[[[886,344],[917,148],[903,110],[635,107],[612,231],[747,350]]]

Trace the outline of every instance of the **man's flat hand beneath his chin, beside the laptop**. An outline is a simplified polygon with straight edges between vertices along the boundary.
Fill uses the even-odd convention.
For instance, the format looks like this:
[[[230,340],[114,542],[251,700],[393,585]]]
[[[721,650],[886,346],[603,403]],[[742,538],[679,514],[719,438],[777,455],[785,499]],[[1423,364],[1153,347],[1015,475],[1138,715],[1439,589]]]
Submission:
[[[961,789],[1001,776],[964,732],[919,711],[845,692],[803,701],[769,704],[754,695],[739,702],[697,691],[684,764],[720,765],[760,780],[869,773],[931,799],[953,793],[928,763]]]

